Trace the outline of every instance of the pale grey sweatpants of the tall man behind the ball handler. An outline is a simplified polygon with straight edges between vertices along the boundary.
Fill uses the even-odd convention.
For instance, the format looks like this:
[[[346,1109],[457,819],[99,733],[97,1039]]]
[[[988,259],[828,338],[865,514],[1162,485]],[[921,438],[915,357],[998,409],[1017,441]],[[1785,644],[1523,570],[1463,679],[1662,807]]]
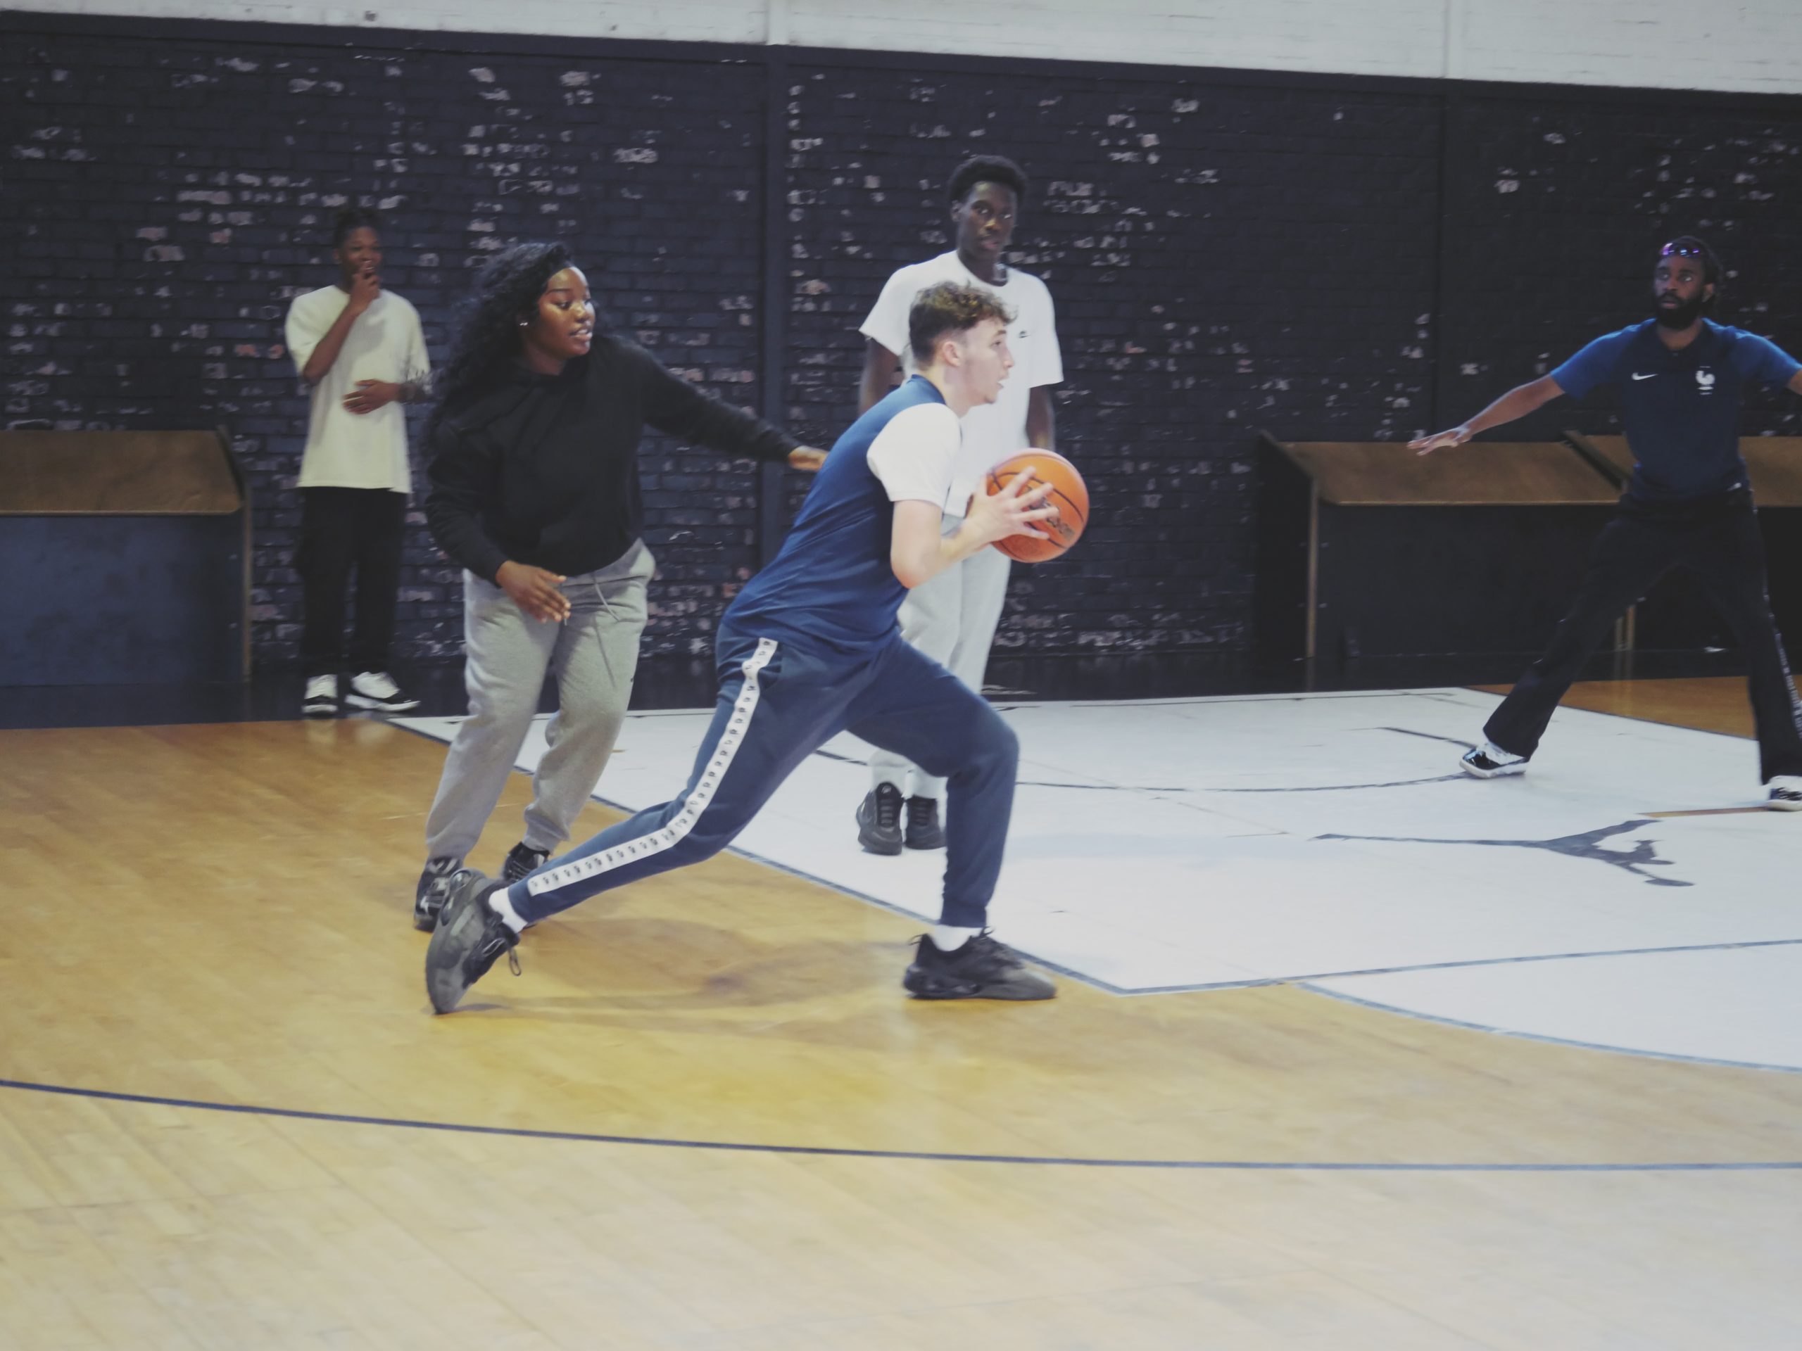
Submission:
[[[942,531],[964,524],[946,515]],[[946,567],[901,602],[901,638],[950,670],[977,694],[989,665],[989,645],[1007,602],[1007,555],[978,549],[955,567]],[[903,796],[944,798],[944,780],[892,751],[870,753],[870,787],[894,784]]]

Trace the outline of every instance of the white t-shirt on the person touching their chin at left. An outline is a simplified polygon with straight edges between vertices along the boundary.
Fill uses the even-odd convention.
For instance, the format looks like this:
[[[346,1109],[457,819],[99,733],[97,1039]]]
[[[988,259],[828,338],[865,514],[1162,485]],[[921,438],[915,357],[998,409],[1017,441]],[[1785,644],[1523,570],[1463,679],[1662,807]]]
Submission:
[[[288,306],[288,351],[296,371],[306,369],[306,358],[314,355],[319,339],[332,331],[346,304],[350,295],[337,286],[294,297]],[[314,385],[297,486],[411,492],[405,405],[396,400],[375,413],[351,413],[344,407],[344,396],[359,380],[416,384],[429,371],[420,312],[395,292],[384,290],[350,326],[332,369]]]

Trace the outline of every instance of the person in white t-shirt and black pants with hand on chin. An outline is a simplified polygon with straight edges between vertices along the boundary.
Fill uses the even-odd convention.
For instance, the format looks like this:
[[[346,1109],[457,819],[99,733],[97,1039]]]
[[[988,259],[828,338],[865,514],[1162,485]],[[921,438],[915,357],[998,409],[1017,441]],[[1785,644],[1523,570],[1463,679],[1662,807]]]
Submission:
[[[301,454],[301,666],[306,717],[339,712],[344,668],[344,602],[357,573],[357,623],[350,639],[353,708],[416,708],[387,674],[407,528],[407,420],[402,403],[423,398],[429,362],[420,313],[382,290],[380,218],[351,207],[332,227],[339,279],[296,295],[288,351],[314,389]]]

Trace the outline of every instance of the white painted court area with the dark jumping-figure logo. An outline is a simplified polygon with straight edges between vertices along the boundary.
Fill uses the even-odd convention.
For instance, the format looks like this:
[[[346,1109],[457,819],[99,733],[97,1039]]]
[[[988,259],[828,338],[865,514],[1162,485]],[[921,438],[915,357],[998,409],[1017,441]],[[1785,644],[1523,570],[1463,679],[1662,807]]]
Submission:
[[[1006,704],[1022,762],[997,933],[1119,993],[1303,980],[1497,1030],[1802,1068],[1802,814],[1651,816],[1757,807],[1753,744],[1561,710],[1528,775],[1479,782],[1456,760],[1494,704]],[[678,793],[710,715],[634,713],[596,798]],[[396,722],[449,739],[458,719]],[[825,746],[737,848],[928,919],[944,856],[858,847],[865,753]]]

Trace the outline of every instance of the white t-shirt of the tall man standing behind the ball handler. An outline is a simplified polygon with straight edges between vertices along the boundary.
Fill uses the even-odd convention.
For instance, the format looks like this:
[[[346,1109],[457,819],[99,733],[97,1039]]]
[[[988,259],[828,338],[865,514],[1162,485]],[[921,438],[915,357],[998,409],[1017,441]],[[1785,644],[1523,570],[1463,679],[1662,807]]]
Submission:
[[[899,268],[888,277],[883,294],[876,297],[876,308],[858,330],[863,337],[881,342],[901,357],[901,369],[908,375],[914,373],[914,353],[908,349],[906,339],[908,310],[914,308],[915,295],[941,281],[993,292],[1015,315],[1013,326],[1007,330],[1007,349],[1013,353],[1015,366],[1002,385],[1002,396],[964,414],[964,452],[953,468],[951,486],[944,499],[946,512],[962,515],[982,476],[1007,456],[1027,449],[1025,409],[1029,394],[1040,385],[1063,382],[1063,351],[1058,348],[1056,313],[1043,281],[1031,272],[1007,268],[1006,285],[991,286],[964,267],[953,250]]]

